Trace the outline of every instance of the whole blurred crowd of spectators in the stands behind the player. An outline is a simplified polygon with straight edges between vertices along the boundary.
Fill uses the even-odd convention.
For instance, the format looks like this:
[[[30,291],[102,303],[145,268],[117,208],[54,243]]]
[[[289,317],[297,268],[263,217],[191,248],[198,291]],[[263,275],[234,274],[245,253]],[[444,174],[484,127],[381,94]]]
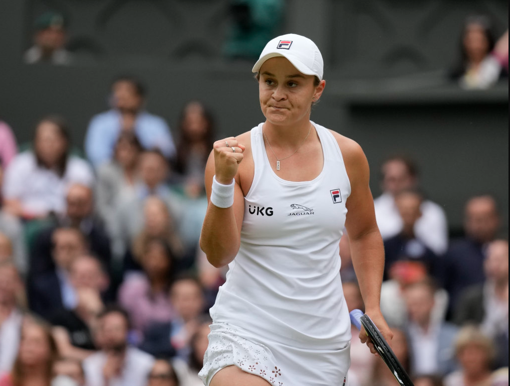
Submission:
[[[246,21],[242,6],[233,12]],[[25,61],[70,63],[63,18],[46,14],[36,26]],[[469,19],[451,76],[467,88],[493,84],[508,71],[507,39]],[[147,111],[133,76],[112,82],[109,103],[91,117],[83,147],[60,116],[41,118],[30,143],[0,121],[0,386],[202,384],[208,309],[226,273],[198,247],[214,116],[192,100],[171,130]],[[416,386],[508,385],[508,240],[498,203],[471,197],[462,236],[450,237],[416,162],[382,161],[374,199],[393,350]],[[348,308],[363,310],[347,234],[340,255]],[[349,384],[397,385],[352,335]]]

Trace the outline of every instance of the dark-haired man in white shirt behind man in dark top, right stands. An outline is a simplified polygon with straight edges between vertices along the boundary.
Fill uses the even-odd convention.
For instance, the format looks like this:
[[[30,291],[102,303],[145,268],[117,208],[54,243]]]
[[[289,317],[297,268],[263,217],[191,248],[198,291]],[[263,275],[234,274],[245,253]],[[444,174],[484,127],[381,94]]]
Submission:
[[[402,218],[395,204],[395,196],[404,189],[418,187],[416,164],[404,156],[391,156],[381,167],[382,195],[374,200],[377,226],[383,239],[395,236],[402,230]],[[442,255],[448,246],[448,226],[444,210],[430,200],[420,206],[421,216],[414,233],[430,250]]]

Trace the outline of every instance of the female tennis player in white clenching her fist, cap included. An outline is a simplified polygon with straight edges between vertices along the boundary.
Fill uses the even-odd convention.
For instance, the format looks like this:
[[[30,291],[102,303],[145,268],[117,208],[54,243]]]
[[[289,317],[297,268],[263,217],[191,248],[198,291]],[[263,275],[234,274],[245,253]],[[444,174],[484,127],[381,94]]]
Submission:
[[[200,245],[214,266],[230,269],[199,375],[208,386],[346,385],[344,226],[365,311],[392,336],[379,309],[384,251],[368,162],[354,141],[310,121],[326,85],[314,42],[274,38],[252,71],[266,120],[215,142],[206,168]]]

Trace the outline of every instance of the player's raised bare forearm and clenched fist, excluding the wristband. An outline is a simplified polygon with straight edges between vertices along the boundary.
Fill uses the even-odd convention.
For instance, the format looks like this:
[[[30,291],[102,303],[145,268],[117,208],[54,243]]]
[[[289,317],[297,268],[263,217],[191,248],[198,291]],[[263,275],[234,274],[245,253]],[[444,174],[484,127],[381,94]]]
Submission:
[[[228,141],[229,147],[225,142]],[[232,151],[235,147],[236,152]],[[205,184],[208,199],[206,217],[200,234],[200,248],[207,260],[219,268],[230,263],[239,251],[241,226],[244,217],[244,196],[238,174],[239,162],[243,160],[245,147],[234,137],[216,141],[206,165]],[[234,204],[219,208],[211,202],[213,176],[220,184],[234,183]]]

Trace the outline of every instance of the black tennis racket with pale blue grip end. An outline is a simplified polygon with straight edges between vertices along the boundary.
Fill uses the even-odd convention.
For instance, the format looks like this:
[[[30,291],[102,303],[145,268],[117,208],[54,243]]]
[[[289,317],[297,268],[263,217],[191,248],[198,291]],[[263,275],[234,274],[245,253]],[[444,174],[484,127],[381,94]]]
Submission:
[[[386,366],[391,370],[395,379],[401,386],[414,386],[411,378],[405,372],[404,368],[398,362],[396,355],[393,353],[390,345],[384,339],[379,330],[375,326],[374,322],[370,320],[368,315],[363,314],[361,310],[352,310],[350,313],[351,323],[354,324],[358,329],[361,330],[361,326],[365,328],[367,336],[370,338],[375,346],[375,349],[381,356],[382,360],[386,363]]]

